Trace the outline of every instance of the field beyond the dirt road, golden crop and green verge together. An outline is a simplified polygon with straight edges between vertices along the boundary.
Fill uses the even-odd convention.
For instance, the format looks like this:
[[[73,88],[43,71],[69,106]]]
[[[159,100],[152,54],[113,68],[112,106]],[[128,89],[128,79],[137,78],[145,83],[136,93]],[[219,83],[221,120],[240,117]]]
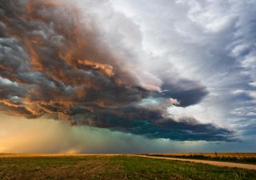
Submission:
[[[221,162],[256,164],[256,153],[191,153],[191,154],[146,154],[155,157],[190,158]]]

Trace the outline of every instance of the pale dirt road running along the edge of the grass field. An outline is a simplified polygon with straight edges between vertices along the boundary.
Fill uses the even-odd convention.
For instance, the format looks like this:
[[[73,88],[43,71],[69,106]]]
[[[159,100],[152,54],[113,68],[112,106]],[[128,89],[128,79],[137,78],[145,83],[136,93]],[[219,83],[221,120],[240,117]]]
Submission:
[[[142,158],[159,158],[159,159],[167,159],[167,160],[177,160],[182,162],[195,162],[202,164],[210,164],[213,166],[227,166],[227,167],[238,167],[247,170],[256,170],[256,165],[253,164],[242,164],[242,163],[234,163],[234,162],[214,162],[207,160],[199,160],[199,159],[186,159],[186,158],[166,158],[166,157],[155,157],[155,156],[146,156],[146,155],[136,155]]]

